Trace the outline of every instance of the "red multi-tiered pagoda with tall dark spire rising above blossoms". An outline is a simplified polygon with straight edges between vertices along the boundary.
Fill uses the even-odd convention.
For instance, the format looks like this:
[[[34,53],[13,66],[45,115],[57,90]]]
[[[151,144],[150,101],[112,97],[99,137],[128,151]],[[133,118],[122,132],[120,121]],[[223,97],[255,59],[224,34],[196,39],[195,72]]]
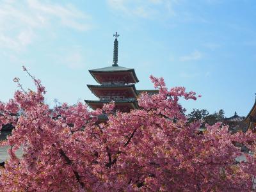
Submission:
[[[139,82],[134,68],[118,66],[118,34],[115,33],[113,65],[89,70],[98,85],[87,84],[99,100],[84,100],[92,109],[102,108],[103,104],[115,102],[115,111],[129,112],[138,109],[135,84]],[[102,115],[104,118],[104,114]],[[105,115],[105,118],[106,115]]]

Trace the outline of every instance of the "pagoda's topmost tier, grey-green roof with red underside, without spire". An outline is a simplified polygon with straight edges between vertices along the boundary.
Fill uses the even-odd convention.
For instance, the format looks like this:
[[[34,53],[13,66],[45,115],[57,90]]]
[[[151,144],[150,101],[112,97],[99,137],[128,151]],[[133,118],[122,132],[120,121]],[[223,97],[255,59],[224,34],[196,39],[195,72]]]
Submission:
[[[134,68],[111,66],[89,70],[93,78],[99,83],[138,83],[139,79],[135,74]]]

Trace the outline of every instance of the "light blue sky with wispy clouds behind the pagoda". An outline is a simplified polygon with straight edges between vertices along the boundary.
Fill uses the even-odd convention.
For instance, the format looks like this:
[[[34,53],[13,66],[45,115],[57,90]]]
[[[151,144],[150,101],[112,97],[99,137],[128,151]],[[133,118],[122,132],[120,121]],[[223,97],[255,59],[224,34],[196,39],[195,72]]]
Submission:
[[[70,3],[72,2],[72,3]],[[95,99],[88,69],[110,66],[118,31],[118,64],[135,68],[138,89],[148,77],[202,95],[184,107],[246,116],[255,101],[256,1],[99,0],[0,1],[0,100],[29,71],[47,88],[46,102]]]

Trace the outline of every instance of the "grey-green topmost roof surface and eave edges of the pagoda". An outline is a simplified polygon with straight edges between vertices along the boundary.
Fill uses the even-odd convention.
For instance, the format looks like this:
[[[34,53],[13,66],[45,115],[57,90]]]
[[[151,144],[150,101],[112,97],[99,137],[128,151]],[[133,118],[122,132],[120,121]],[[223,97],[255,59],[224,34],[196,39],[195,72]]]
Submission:
[[[90,69],[89,70],[90,74],[94,73],[111,73],[111,72],[132,72],[132,76],[134,77],[134,80],[136,83],[139,82],[138,77],[135,74],[134,68],[126,68],[126,67],[120,67],[120,66],[110,66],[110,67],[103,67],[103,68],[96,68],[96,69]],[[100,83],[95,76],[93,78]]]

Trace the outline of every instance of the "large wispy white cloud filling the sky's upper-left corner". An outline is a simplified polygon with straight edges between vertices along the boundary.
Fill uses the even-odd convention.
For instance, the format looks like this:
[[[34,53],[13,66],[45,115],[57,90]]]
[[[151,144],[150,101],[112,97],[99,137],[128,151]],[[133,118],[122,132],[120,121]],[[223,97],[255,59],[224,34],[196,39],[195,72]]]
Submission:
[[[26,49],[40,29],[63,26],[86,31],[90,17],[72,6],[37,0],[6,0],[0,3],[0,46],[14,51]]]

